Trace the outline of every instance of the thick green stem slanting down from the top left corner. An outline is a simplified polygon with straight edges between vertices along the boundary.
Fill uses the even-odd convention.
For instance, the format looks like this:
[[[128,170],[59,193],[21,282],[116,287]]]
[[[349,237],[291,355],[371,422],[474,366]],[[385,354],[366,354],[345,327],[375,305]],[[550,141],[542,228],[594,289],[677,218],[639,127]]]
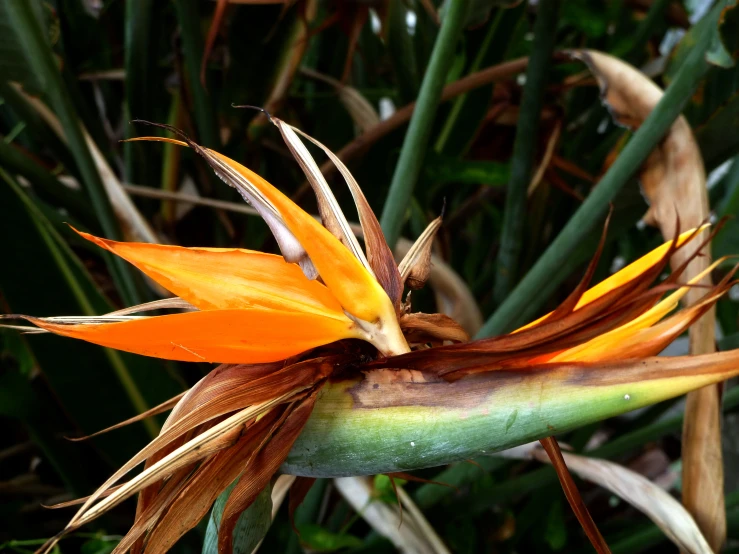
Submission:
[[[31,2],[8,2],[6,4],[8,17],[12,22],[16,35],[26,53],[26,60],[32,71],[43,83],[44,92],[54,109],[72,151],[77,167],[82,176],[87,193],[90,195],[95,213],[100,220],[105,236],[114,240],[121,240],[118,222],[110,205],[103,182],[100,179],[95,162],[87,147],[77,113],[67,88],[56,66],[48,41],[44,37],[39,21],[33,13]],[[139,303],[139,295],[134,284],[130,269],[118,257],[108,257],[111,273],[121,286],[121,293],[125,300],[133,304]]]

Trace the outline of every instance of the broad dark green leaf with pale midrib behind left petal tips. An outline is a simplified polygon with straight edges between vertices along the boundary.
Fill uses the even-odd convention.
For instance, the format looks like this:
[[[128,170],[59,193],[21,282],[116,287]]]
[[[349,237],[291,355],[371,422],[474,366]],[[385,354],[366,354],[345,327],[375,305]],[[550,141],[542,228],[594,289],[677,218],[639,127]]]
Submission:
[[[0,205],[0,233],[22,237],[2,246],[0,290],[15,313],[94,315],[111,311],[82,262],[2,169]],[[85,434],[145,411],[182,390],[152,359],[55,335],[28,335],[26,342],[61,404]],[[158,432],[154,420],[143,425],[150,436]],[[146,441],[142,431],[141,424],[132,425],[94,441],[118,464]],[[76,432],[70,430],[70,434]]]

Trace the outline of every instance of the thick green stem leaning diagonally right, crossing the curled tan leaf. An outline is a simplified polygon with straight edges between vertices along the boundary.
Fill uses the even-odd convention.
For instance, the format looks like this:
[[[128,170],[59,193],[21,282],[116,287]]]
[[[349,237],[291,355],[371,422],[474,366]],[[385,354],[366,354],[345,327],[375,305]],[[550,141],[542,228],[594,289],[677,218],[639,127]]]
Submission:
[[[711,38],[712,35],[706,33],[693,47],[675,80],[667,88],[662,99],[634,134],[621,155],[557,238],[549,245],[546,252],[492,317],[485,322],[478,337],[504,333],[521,323],[520,313],[524,308],[532,308],[533,304],[538,309],[543,305],[546,297],[540,294],[541,288],[545,284],[552,284],[550,281],[555,269],[562,263],[562,260],[566,260],[572,254],[583,235],[591,232],[602,220],[616,193],[628,182],[664,137],[700,85],[702,77],[711,67],[705,59]],[[556,279],[557,282],[561,282],[562,276],[557,276]]]

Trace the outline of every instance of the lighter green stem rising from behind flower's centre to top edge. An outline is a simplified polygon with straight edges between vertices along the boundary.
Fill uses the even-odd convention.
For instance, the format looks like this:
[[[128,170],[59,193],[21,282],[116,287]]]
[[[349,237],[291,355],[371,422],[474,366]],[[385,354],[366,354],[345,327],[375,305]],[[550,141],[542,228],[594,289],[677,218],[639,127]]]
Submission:
[[[400,236],[413,187],[421,171],[436,108],[441,100],[446,75],[452,65],[457,40],[467,20],[469,5],[466,0],[450,2],[431,53],[428,69],[423,77],[416,109],[403,141],[398,165],[380,218],[382,230],[391,248]]]

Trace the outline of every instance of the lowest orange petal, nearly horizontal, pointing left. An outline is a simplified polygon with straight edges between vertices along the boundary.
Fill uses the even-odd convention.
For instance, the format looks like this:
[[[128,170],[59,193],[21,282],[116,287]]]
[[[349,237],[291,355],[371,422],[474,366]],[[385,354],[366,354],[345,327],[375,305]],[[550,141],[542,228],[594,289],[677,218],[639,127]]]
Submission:
[[[184,362],[272,362],[336,340],[357,338],[345,316],[263,309],[209,310],[116,323],[26,319],[57,335]]]

